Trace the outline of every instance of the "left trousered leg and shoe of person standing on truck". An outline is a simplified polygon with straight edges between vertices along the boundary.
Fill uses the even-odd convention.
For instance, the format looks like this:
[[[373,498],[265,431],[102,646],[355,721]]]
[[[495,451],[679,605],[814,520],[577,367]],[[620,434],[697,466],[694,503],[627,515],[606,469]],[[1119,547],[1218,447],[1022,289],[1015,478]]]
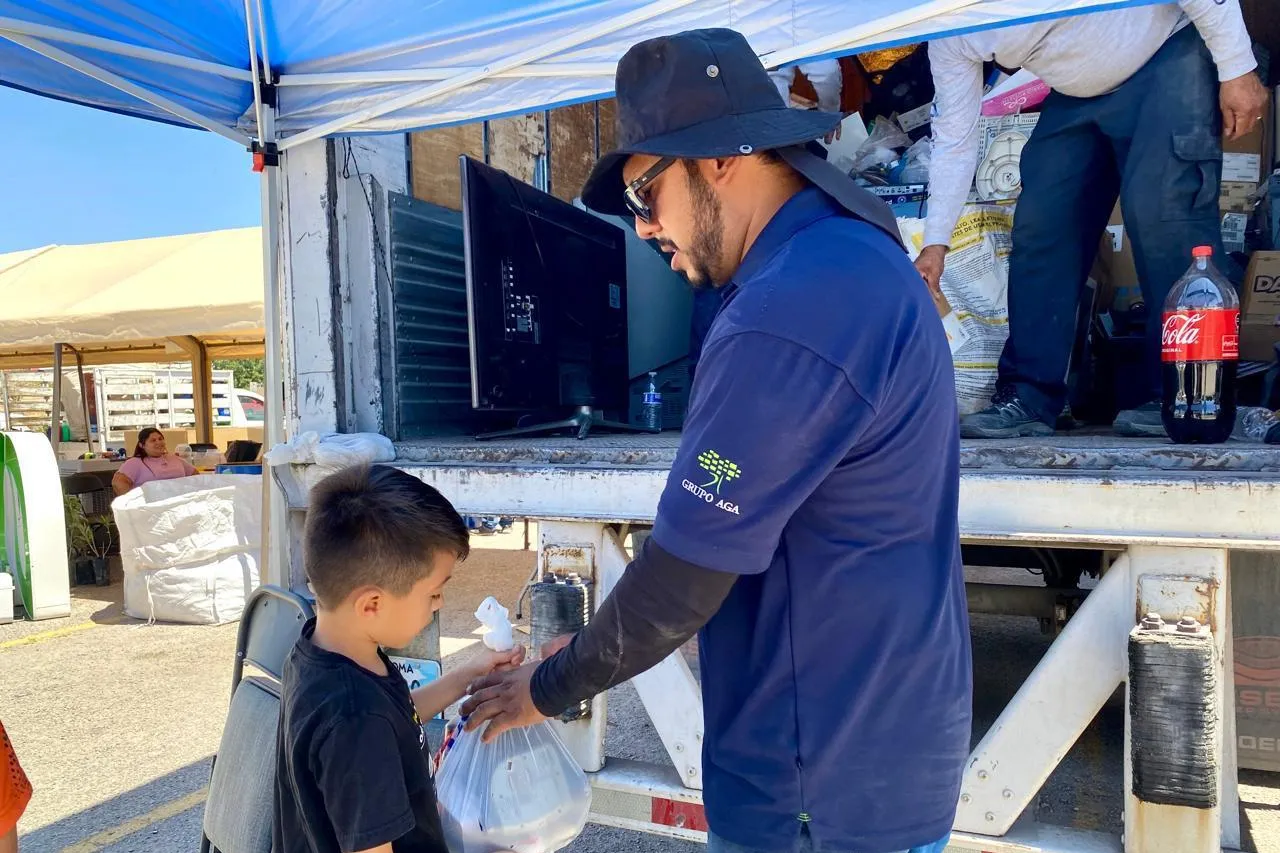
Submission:
[[[1009,339],[991,407],[960,420],[965,438],[1048,435],[1066,405],[1080,289],[1120,187],[1100,100],[1051,93],[1023,149]]]

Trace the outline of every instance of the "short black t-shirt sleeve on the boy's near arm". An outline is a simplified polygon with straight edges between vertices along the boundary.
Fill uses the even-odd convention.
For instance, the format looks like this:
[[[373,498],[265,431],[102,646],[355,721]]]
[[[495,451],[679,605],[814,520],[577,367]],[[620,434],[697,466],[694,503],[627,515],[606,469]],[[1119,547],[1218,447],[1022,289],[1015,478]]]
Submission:
[[[389,844],[413,829],[396,730],[384,717],[338,720],[316,743],[312,772],[343,853]]]

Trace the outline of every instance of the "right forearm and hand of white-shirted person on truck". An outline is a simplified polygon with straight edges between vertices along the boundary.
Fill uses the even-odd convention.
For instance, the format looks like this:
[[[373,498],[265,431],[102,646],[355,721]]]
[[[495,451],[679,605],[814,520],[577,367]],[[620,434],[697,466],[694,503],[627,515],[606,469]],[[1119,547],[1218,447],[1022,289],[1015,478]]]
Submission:
[[[1239,0],[1179,0],[1187,17],[1196,24],[1217,65],[1221,82],[1219,101],[1222,108],[1222,133],[1236,140],[1262,118],[1270,93],[1253,73],[1258,67],[1253,56],[1249,32]]]

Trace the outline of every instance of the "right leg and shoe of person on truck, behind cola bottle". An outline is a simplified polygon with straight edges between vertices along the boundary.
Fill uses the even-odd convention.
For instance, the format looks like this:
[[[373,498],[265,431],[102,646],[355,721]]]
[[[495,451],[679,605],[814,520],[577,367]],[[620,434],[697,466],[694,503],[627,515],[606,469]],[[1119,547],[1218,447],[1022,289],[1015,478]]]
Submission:
[[[1217,67],[1194,27],[1175,33],[1120,90],[1106,96],[1103,129],[1121,164],[1120,207],[1147,305],[1146,405],[1120,412],[1123,435],[1164,437],[1160,336],[1169,291],[1211,246],[1213,264],[1239,280],[1222,248],[1217,197],[1222,177],[1222,114]]]

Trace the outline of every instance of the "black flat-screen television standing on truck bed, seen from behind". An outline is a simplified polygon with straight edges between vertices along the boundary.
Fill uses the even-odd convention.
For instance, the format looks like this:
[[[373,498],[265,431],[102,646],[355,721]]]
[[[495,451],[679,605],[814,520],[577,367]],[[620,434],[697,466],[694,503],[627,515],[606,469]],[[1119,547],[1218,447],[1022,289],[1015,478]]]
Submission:
[[[621,228],[462,158],[471,405],[626,420]]]

